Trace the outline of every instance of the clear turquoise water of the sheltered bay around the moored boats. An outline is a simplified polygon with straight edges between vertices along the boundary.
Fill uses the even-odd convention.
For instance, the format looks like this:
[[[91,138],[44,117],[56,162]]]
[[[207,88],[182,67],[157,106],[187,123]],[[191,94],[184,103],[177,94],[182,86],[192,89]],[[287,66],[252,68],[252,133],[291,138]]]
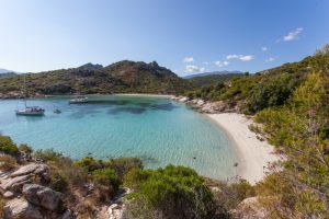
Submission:
[[[0,131],[34,149],[54,148],[79,159],[139,157],[146,168],[182,164],[200,174],[226,178],[237,174],[227,135],[189,106],[166,97],[90,96],[84,105],[69,97],[30,100],[43,117],[16,116],[22,101],[0,101]],[[59,108],[61,114],[54,114]]]

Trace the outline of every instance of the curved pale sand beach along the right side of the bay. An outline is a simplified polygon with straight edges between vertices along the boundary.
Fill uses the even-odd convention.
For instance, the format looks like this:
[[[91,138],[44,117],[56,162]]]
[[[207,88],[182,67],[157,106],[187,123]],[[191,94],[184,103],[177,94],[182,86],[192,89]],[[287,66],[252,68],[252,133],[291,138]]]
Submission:
[[[279,155],[273,154],[274,147],[257,139],[256,134],[248,128],[252,120],[242,114],[223,113],[207,114],[207,116],[224,128],[234,140],[239,160],[239,176],[250,184],[261,181],[269,162],[280,159]]]

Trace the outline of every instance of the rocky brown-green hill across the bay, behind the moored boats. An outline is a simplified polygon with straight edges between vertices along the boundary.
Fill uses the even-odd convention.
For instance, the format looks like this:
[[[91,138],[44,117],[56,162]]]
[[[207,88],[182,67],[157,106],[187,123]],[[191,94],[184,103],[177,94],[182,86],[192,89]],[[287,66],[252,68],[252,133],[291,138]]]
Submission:
[[[18,92],[22,83],[22,76],[0,78],[0,93]],[[26,87],[30,95],[35,95],[121,92],[174,94],[191,85],[156,61],[124,60],[106,67],[87,64],[72,69],[27,73]]]

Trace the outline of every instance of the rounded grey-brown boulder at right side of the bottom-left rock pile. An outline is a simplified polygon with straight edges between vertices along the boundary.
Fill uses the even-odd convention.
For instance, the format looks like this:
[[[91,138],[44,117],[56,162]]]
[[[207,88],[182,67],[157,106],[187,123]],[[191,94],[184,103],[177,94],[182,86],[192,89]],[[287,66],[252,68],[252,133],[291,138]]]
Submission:
[[[37,184],[25,184],[23,186],[23,194],[30,203],[36,206],[52,211],[61,209],[61,194],[52,188]]]

